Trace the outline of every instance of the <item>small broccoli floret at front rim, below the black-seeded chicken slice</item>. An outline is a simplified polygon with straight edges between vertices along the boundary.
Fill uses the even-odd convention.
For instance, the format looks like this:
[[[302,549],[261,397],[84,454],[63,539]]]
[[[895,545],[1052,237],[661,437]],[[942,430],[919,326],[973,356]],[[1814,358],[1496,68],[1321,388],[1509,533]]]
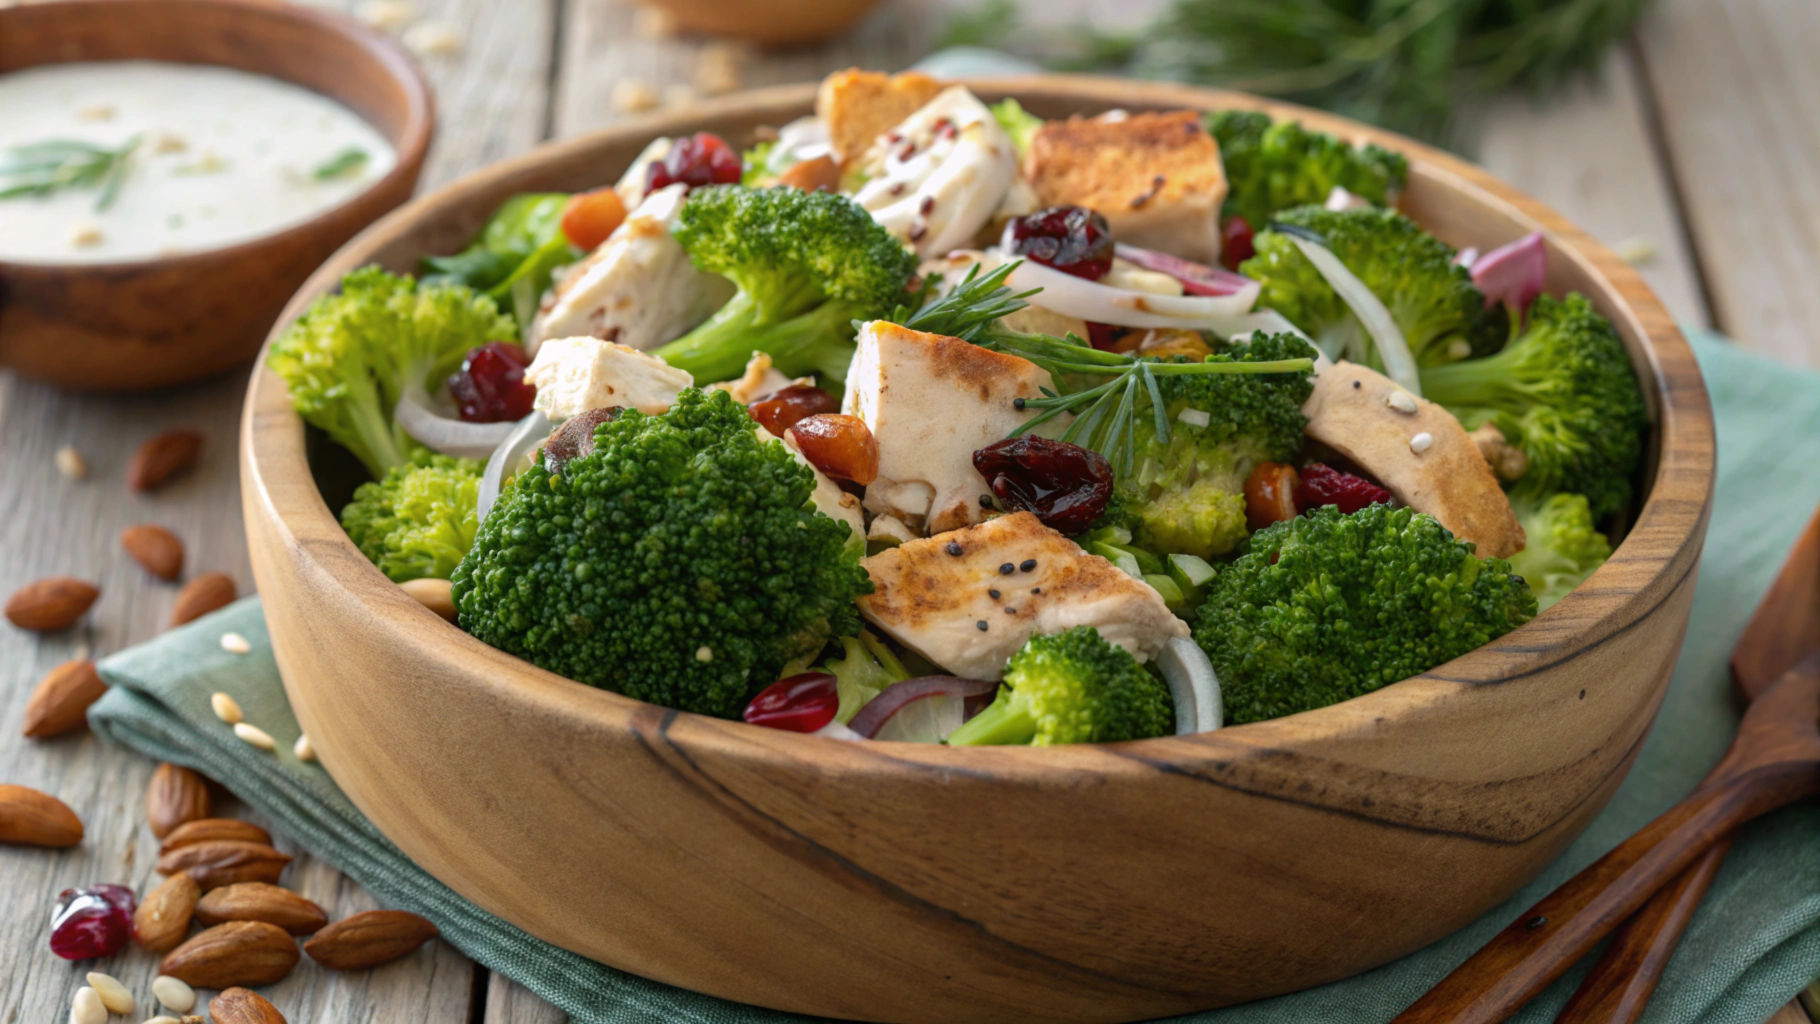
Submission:
[[[1174,731],[1168,686],[1092,626],[1076,626],[1030,637],[1005,668],[997,698],[948,744],[1114,744]]]

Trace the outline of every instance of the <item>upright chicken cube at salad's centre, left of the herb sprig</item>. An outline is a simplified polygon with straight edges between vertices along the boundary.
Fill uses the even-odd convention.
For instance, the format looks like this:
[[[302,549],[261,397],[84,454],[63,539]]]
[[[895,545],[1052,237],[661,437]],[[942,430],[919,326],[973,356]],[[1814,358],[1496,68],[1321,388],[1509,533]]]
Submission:
[[[1012,402],[1037,398],[1048,384],[1034,362],[961,338],[886,320],[861,327],[841,411],[859,417],[879,442],[866,507],[919,533],[985,518],[986,482],[974,469],[974,451],[1034,417]]]

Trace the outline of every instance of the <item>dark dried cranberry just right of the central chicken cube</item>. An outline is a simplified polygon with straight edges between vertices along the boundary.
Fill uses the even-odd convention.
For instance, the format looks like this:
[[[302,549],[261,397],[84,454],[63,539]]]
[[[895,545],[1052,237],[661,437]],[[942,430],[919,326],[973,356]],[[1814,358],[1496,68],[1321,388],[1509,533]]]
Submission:
[[[974,469],[1008,507],[1036,513],[1061,533],[1081,533],[1112,500],[1105,455],[1046,437],[996,440],[974,453]]]

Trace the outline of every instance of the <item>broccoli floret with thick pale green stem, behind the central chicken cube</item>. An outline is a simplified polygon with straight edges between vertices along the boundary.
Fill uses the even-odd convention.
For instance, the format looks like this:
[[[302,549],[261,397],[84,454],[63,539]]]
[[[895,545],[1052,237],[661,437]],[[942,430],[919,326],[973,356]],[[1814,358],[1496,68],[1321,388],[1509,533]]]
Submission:
[[[763,351],[784,375],[844,380],[854,320],[908,298],[915,256],[854,200],[792,187],[695,189],[675,238],[695,266],[739,291],[688,335],[653,355],[697,382],[739,376]]]

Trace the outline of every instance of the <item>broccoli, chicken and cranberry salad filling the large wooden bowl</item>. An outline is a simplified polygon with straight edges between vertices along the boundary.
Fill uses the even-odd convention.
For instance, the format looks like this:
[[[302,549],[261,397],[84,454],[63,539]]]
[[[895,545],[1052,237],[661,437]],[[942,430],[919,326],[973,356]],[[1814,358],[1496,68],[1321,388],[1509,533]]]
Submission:
[[[1250,111],[844,71],[744,153],[657,138],[348,275],[269,366],[371,473],[360,551],[577,682],[846,740],[1194,733],[1509,633],[1627,515],[1616,331],[1405,176]]]

